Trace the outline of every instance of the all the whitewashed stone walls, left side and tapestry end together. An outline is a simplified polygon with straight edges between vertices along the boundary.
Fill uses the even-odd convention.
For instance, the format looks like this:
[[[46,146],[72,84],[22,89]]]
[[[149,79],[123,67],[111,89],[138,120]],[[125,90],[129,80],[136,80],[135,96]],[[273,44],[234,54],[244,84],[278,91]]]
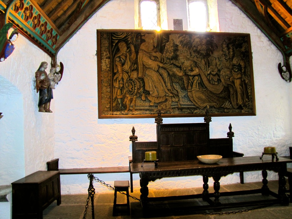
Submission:
[[[220,31],[251,34],[257,116],[213,117],[210,137],[225,137],[231,123],[235,151],[260,156],[263,147],[276,146],[280,156],[288,155],[291,84],[279,77],[277,64],[283,62],[281,53],[229,0],[217,2]],[[170,8],[174,1],[166,4]],[[168,11],[168,25],[173,18],[185,19],[183,16]],[[13,55],[0,63],[0,112],[4,115],[0,120],[0,149],[1,161],[5,160],[1,162],[4,166],[0,167],[0,185],[46,170],[46,161],[53,158],[60,159],[60,168],[127,166],[132,126],[139,141],[156,140],[154,119],[98,119],[96,29],[134,29],[133,18],[134,0],[109,1],[61,48],[58,62],[63,62],[65,70],[54,90],[52,114],[38,112],[38,94],[33,89],[34,72],[50,58],[19,36]],[[164,119],[164,123],[202,121],[203,118]],[[129,179],[128,173],[95,176],[107,183]],[[275,179],[277,174],[269,178]],[[138,175],[134,179],[134,188],[139,188]],[[245,173],[246,182],[260,180],[260,172]],[[238,174],[220,180],[221,184],[237,182]],[[201,185],[198,176],[156,180],[149,187]],[[61,176],[62,194],[86,193],[87,187],[86,175]],[[98,192],[108,191],[98,183],[95,187]]]

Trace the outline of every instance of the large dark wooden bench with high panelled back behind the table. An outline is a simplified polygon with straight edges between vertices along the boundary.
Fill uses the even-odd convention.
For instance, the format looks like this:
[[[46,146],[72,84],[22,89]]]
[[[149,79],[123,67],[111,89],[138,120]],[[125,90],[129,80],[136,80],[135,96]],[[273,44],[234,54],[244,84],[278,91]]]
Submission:
[[[227,138],[209,137],[209,122],[211,117],[204,117],[204,123],[162,124],[161,113],[158,111],[155,119],[156,138],[153,142],[137,142],[135,128],[132,128],[132,157],[129,163],[142,163],[145,152],[156,151],[158,162],[196,160],[199,155],[218,154],[223,158],[242,157],[243,153],[233,151],[234,133],[229,125]],[[131,168],[131,167],[130,167]],[[130,172],[131,192],[133,192],[133,174]],[[240,172],[240,182],[244,183],[243,172]]]

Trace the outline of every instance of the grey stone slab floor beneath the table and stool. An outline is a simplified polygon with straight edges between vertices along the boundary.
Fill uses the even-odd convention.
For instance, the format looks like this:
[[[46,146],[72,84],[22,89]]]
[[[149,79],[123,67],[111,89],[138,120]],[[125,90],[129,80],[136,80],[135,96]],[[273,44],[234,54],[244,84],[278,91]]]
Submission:
[[[262,186],[261,182],[257,183],[245,183],[245,184],[230,184],[230,185],[221,185],[220,192],[226,191],[239,191],[246,189],[256,189]],[[270,190],[277,192],[278,190],[278,181],[269,181],[268,186]],[[288,187],[289,185],[287,185]],[[209,188],[209,192],[212,191],[213,188]],[[191,189],[168,189],[168,190],[149,190],[148,197],[161,197],[161,196],[175,196],[182,194],[200,194],[202,192],[202,188],[191,188]],[[130,193],[133,197],[140,197],[140,190],[137,188],[134,189],[133,193]],[[253,195],[254,196],[254,195]],[[259,195],[261,196],[261,195]],[[76,194],[76,195],[62,195],[62,204],[57,206],[56,201],[51,204],[48,208],[46,208],[43,212],[44,219],[82,219],[84,218],[84,210],[86,206],[87,194]],[[223,199],[228,199],[228,197],[221,197],[220,201]],[[253,197],[253,199],[257,199],[260,197]],[[103,218],[115,218],[115,219],[129,219],[129,218],[143,218],[142,216],[142,208],[138,200],[135,200],[130,197],[130,206],[131,206],[131,215],[126,215],[126,211],[121,209],[118,216],[112,216],[112,206],[114,199],[114,191],[109,193],[95,193],[94,196],[94,212],[96,219]],[[244,198],[241,197],[232,197],[230,200],[236,201],[240,199],[243,201]],[[117,203],[126,203],[126,196],[123,194],[117,195]],[[183,203],[183,202],[182,202]],[[180,204],[182,204],[180,203]],[[199,203],[199,201],[198,201]],[[183,203],[185,204],[185,203]],[[171,206],[171,205],[168,205]],[[165,217],[154,217],[154,219],[158,218],[173,218],[173,219],[211,219],[211,218],[228,218],[228,219],[241,219],[241,218],[261,218],[261,219],[291,219],[292,218],[292,203],[289,206],[281,206],[279,204],[275,204],[273,206],[259,208],[254,210],[245,211],[242,213],[231,213],[225,214],[225,212],[239,211],[251,209],[254,207],[246,207],[246,208],[236,208],[236,209],[224,209],[222,212],[223,215],[204,215],[204,214],[195,214],[195,215],[181,215],[181,216],[165,216]],[[214,211],[215,212],[215,211]],[[220,212],[220,211],[219,211]],[[92,219],[92,211],[91,204],[89,202],[89,206],[86,213],[86,218]]]

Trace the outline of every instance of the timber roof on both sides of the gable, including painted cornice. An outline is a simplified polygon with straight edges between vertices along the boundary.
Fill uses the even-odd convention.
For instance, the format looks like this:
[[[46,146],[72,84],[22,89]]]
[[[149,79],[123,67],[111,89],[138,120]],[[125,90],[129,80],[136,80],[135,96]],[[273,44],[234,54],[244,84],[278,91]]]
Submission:
[[[0,0],[0,27],[7,22],[13,22],[27,38],[54,57],[78,29],[108,1]],[[292,55],[292,0],[230,1],[261,29],[281,51],[283,62],[287,62]],[[16,6],[20,6],[19,10],[23,6],[22,14],[28,15],[26,20],[20,19],[22,14],[20,11],[16,13]],[[28,25],[27,18],[31,19],[32,24]],[[48,24],[45,30],[42,25],[44,22]]]

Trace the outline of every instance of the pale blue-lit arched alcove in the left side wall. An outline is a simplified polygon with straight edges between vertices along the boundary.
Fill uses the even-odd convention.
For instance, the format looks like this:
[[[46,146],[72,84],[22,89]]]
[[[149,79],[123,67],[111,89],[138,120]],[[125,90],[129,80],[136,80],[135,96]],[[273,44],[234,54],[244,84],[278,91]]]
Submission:
[[[21,92],[0,76],[0,185],[25,176],[23,111]]]

